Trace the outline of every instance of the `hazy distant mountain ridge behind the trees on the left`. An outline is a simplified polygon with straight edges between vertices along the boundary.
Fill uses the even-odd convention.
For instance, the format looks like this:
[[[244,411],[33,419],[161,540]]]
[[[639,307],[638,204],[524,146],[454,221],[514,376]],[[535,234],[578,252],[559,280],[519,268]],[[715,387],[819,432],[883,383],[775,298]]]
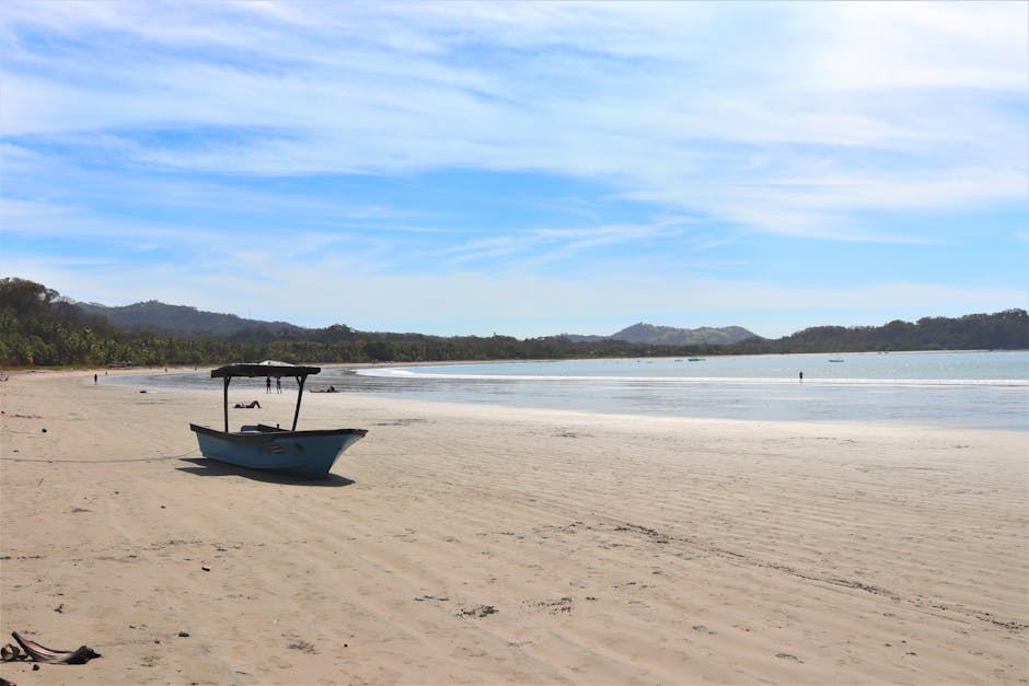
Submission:
[[[118,328],[134,334],[150,332],[182,338],[232,338],[259,332],[297,337],[310,330],[288,322],[244,319],[234,314],[203,312],[196,307],[166,305],[155,300],[123,307],[108,307],[99,303],[76,303],[76,306],[85,314],[102,316]]]

